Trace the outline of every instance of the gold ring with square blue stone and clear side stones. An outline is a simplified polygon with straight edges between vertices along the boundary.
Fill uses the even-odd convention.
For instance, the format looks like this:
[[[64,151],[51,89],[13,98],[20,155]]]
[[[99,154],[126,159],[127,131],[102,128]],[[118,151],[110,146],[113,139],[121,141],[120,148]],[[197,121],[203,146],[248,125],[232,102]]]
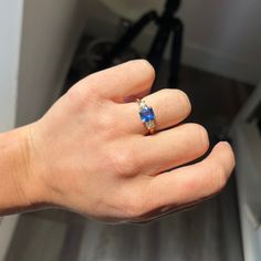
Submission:
[[[154,134],[156,129],[155,113],[152,107],[147,106],[145,101],[136,100],[139,105],[139,116],[149,134]]]

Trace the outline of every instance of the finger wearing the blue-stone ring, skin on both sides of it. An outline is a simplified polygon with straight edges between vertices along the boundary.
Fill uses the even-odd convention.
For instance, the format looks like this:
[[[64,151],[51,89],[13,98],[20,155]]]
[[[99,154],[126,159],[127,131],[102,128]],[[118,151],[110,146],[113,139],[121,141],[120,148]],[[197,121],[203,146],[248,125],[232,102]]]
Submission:
[[[153,107],[156,116],[156,130],[171,127],[182,122],[191,112],[191,104],[186,93],[180,90],[165,88],[143,98]],[[147,129],[140,121],[139,107],[136,103],[118,105],[121,122],[126,132],[147,134]],[[127,119],[127,121],[126,121]]]

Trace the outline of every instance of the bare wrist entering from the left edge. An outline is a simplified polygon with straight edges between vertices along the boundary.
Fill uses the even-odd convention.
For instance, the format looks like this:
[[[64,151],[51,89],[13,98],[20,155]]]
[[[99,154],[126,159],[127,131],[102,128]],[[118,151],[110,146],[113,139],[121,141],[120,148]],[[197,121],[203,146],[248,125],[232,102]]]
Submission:
[[[35,175],[31,125],[0,134],[0,213],[8,215],[46,206],[41,180]]]

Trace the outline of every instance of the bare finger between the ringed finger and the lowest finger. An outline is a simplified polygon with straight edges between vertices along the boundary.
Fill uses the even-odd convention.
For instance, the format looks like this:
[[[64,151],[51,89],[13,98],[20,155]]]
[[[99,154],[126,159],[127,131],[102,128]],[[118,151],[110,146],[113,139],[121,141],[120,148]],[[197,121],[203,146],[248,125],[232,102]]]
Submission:
[[[201,125],[182,124],[140,137],[136,146],[139,148],[136,155],[146,167],[143,173],[157,175],[202,156],[209,148],[209,138]]]

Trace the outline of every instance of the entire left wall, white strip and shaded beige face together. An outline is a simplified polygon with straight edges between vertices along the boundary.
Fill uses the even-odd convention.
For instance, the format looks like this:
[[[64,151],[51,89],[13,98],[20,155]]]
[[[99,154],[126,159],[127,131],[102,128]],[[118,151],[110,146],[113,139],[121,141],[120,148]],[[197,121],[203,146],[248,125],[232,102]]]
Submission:
[[[61,90],[85,25],[84,0],[0,0],[0,132],[39,118]],[[19,216],[0,220],[0,261]]]

